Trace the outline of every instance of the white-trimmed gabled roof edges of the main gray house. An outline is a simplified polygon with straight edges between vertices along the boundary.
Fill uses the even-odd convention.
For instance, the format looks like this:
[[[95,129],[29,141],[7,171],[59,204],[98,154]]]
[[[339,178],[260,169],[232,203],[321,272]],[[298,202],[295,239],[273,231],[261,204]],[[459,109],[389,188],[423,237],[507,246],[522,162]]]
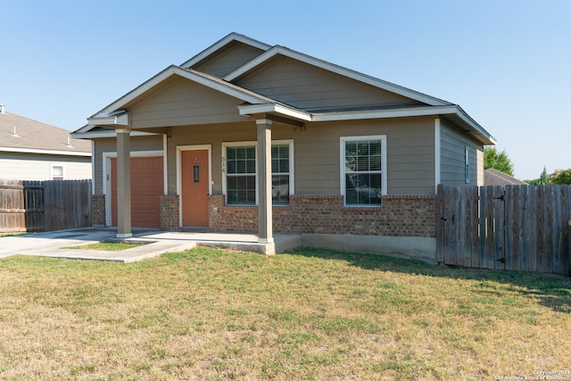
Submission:
[[[203,62],[205,59],[219,53],[229,44],[236,42],[254,46],[260,49],[262,53],[251,61],[245,62],[242,66],[231,71],[221,79],[205,74],[201,71],[191,69],[195,64]],[[236,85],[236,82],[238,82],[238,80],[244,75],[252,73],[254,70],[265,66],[277,56],[285,56],[298,62],[313,65],[322,70],[328,70],[345,78],[352,79],[372,87],[377,87],[395,95],[404,96],[418,102],[418,104],[387,105],[386,107],[374,106],[373,108],[355,107],[352,110],[322,109],[317,112],[315,110],[312,111],[309,109],[305,110],[299,107],[294,107],[291,104],[281,102],[279,99],[272,99],[268,96],[258,94],[252,90]],[[92,135],[95,134],[94,128],[96,128],[96,126],[128,127],[128,113],[124,112],[125,109],[128,109],[130,104],[135,102],[138,97],[144,96],[145,93],[151,91],[153,87],[158,86],[161,82],[170,79],[172,76],[179,76],[181,78],[188,79],[205,87],[210,87],[220,93],[234,96],[237,99],[242,100],[244,104],[237,105],[238,113],[240,115],[268,113],[301,122],[442,115],[451,120],[459,127],[459,129],[462,129],[468,134],[476,137],[476,139],[481,141],[484,145],[495,144],[495,139],[457,104],[451,104],[443,101],[442,99],[435,98],[434,96],[425,95],[418,91],[401,87],[382,79],[370,77],[360,72],[319,60],[307,54],[295,52],[294,50],[284,46],[271,47],[267,44],[261,43],[260,41],[237,33],[230,33],[227,37],[222,38],[214,45],[203,50],[200,54],[197,54],[190,60],[184,62],[181,66],[171,65],[167,69],[162,70],[152,79],[145,81],[145,83],[130,91],[127,95],[122,96],[100,112],[95,113],[91,118],[88,118],[88,125],[74,132],[74,135],[76,137],[92,137]],[[89,134],[89,136],[86,134]]]

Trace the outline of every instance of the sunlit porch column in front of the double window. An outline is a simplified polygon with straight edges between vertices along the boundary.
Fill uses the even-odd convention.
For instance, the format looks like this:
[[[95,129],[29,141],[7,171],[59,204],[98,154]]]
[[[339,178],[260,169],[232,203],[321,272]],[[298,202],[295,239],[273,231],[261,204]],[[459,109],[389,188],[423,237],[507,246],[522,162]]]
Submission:
[[[256,120],[258,126],[258,198],[260,234],[258,242],[274,242],[271,212],[271,120]]]

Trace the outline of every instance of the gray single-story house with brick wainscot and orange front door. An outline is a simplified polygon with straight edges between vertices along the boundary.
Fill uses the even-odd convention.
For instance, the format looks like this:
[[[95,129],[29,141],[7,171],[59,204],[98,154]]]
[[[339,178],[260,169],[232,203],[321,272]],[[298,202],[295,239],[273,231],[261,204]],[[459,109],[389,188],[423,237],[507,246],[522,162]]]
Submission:
[[[483,185],[495,142],[457,104],[236,33],[87,121],[72,135],[94,141],[97,223],[269,246],[277,233],[433,247],[437,185]]]

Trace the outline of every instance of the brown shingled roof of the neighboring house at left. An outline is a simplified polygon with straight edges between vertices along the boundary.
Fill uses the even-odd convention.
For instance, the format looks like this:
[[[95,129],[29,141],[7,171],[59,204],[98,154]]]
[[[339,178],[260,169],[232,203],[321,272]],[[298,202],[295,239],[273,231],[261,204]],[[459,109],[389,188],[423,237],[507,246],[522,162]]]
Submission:
[[[0,151],[91,156],[91,143],[70,139],[70,131],[0,112]]]

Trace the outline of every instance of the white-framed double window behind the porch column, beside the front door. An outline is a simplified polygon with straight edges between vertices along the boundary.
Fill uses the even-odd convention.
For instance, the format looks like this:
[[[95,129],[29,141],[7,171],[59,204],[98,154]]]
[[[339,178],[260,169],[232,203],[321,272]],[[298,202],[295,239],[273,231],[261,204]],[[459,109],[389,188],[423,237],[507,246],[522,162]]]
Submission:
[[[294,189],[294,141],[271,145],[272,204],[288,205]],[[228,205],[257,205],[257,146],[255,142],[222,144],[223,189]]]

